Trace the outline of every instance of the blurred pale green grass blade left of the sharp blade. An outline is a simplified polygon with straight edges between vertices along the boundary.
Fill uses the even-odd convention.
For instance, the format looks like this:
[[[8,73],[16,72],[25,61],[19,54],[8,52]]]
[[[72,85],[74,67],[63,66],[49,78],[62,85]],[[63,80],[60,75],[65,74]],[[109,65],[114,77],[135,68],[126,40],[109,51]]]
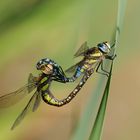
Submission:
[[[102,98],[101,82],[106,82],[106,79],[100,77],[96,91],[92,94],[84,112],[82,113],[82,117],[80,118],[72,140],[88,140],[96,119],[100,100]]]

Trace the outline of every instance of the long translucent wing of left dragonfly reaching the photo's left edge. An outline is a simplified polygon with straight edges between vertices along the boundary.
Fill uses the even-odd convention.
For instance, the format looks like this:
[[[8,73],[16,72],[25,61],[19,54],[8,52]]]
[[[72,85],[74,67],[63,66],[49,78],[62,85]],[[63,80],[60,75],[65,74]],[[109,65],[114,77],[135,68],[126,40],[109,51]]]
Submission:
[[[20,89],[1,96],[0,108],[9,107],[19,102],[21,99],[23,99],[23,97],[25,97],[28,93],[32,92],[35,88],[36,88],[36,82],[28,81],[28,84],[21,87]]]

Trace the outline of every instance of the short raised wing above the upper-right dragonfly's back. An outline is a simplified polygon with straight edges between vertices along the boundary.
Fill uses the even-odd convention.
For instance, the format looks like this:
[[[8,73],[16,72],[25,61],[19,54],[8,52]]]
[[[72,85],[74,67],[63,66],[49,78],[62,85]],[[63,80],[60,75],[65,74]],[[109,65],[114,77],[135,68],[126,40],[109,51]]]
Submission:
[[[89,49],[87,46],[87,42],[84,42],[81,47],[78,49],[78,51],[74,54],[74,57],[82,56],[84,53]]]

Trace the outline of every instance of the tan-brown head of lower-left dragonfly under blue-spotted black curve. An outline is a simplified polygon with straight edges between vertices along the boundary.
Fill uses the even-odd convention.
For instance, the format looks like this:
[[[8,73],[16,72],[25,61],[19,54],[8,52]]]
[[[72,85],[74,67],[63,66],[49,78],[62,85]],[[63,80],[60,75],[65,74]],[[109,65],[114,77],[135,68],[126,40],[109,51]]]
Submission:
[[[52,74],[53,73],[53,65],[51,64],[50,59],[41,59],[36,64],[37,70],[42,71],[44,74]]]

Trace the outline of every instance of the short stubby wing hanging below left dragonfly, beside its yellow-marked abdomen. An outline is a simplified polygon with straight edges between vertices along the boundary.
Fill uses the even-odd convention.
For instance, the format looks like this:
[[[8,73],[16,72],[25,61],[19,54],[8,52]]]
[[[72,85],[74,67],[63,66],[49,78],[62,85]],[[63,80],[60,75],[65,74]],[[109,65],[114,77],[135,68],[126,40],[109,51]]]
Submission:
[[[41,103],[41,93],[37,92],[36,93],[36,98],[35,98],[35,103],[34,103],[34,106],[32,108],[33,112],[35,112],[37,110],[37,108],[39,107],[40,103]]]

